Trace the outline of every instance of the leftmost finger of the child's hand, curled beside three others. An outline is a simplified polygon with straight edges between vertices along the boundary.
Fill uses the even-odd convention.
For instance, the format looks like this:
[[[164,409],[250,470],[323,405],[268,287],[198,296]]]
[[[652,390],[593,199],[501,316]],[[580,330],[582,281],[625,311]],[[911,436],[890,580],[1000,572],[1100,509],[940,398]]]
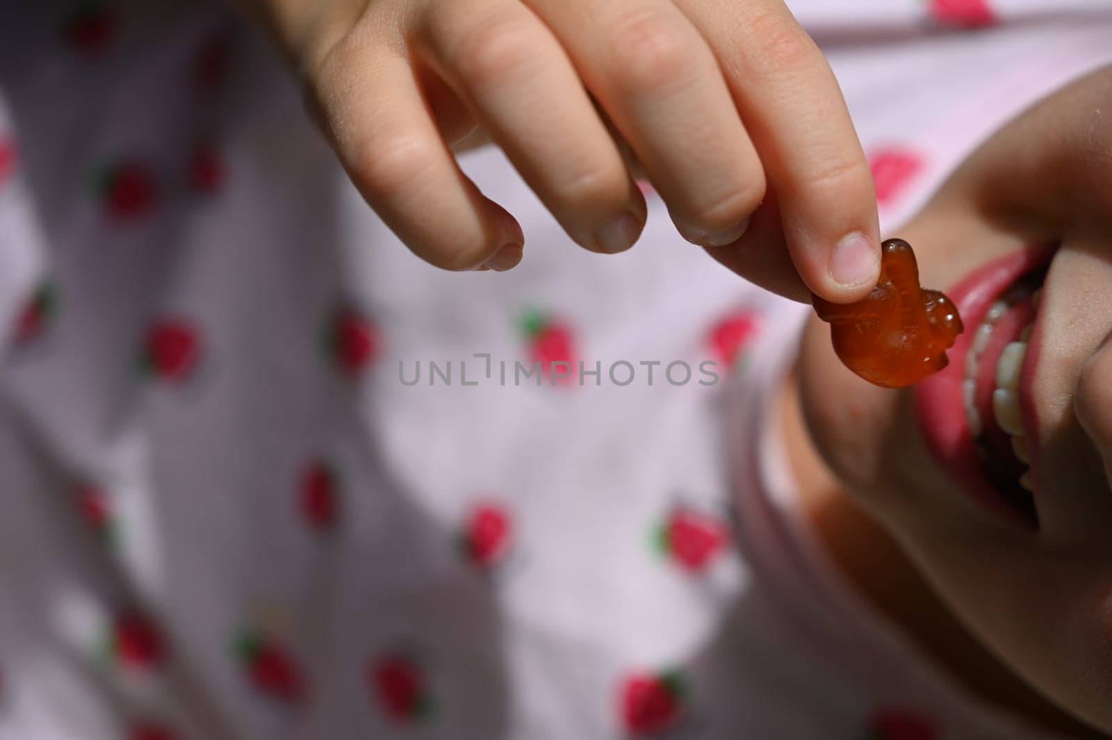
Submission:
[[[520,261],[520,227],[456,164],[408,60],[350,37],[311,82],[353,182],[414,253],[447,270],[484,263],[502,270]]]

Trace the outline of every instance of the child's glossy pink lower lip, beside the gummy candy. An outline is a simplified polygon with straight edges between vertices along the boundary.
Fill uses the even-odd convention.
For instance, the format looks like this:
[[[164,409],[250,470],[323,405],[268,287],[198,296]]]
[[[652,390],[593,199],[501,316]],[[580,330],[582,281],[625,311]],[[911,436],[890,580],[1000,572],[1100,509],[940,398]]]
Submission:
[[[965,379],[965,356],[989,309],[1012,283],[1044,267],[1053,253],[1050,247],[1023,249],[971,272],[946,291],[957,307],[965,332],[947,353],[950,364],[921,382],[913,394],[915,417],[926,446],[957,487],[996,514],[1025,526],[1031,522],[1001,498],[981,470],[973,436],[965,421],[962,381]],[[1032,344],[1035,339],[1032,337]]]

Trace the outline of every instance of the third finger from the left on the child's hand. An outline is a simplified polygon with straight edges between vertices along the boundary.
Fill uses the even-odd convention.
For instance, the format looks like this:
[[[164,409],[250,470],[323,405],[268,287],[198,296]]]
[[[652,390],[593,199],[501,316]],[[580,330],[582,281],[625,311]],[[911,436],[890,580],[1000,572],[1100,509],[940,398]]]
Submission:
[[[714,56],[671,0],[525,0],[691,241],[735,241],[764,171]]]

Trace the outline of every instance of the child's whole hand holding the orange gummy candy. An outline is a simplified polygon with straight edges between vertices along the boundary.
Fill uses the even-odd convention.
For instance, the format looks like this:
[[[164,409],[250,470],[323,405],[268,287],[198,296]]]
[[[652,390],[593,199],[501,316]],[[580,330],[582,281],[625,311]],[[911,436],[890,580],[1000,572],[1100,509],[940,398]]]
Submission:
[[[240,4],[302,70],[367,201],[434,264],[500,270],[522,257],[519,226],[449,148],[480,126],[589,250],[619,252],[641,233],[636,161],[679,231],[746,278],[838,302],[876,281],[865,157],[782,0]]]

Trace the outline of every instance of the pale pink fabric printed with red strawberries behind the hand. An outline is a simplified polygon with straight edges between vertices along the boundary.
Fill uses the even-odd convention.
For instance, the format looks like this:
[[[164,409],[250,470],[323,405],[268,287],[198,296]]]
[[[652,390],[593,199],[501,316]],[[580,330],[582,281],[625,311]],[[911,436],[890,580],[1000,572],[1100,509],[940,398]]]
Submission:
[[[600,258],[468,152],[528,246],[446,273],[222,3],[10,4],[0,740],[1044,737],[828,577],[765,424],[807,308],[648,183]],[[888,229],[1112,60],[1104,0],[792,6]]]

